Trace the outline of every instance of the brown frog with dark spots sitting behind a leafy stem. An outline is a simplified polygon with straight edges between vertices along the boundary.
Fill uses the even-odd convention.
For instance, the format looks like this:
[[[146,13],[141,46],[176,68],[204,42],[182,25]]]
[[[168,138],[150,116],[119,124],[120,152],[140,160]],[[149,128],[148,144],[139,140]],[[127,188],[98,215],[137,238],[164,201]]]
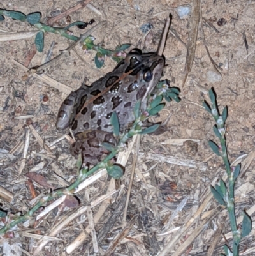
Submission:
[[[133,49],[112,72],[91,86],[82,86],[69,94],[59,109],[56,127],[63,130],[69,126],[76,135],[77,142],[71,146],[71,154],[77,156],[82,151],[87,162],[96,164],[95,159],[101,159],[101,154],[105,153],[99,144],[108,142],[104,132],[113,132],[112,113],[117,113],[120,131],[128,128],[135,121],[135,103],[142,99],[142,109],[145,109],[147,95],[159,81],[163,68],[162,56]],[[85,130],[90,132],[79,137]],[[110,135],[109,139],[112,140]]]

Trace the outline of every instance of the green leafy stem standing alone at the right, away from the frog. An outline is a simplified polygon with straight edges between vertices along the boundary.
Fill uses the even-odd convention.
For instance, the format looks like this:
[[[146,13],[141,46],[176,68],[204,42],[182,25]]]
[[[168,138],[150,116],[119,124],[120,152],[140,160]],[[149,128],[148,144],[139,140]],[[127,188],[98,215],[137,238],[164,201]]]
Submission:
[[[228,158],[225,135],[228,108],[224,107],[222,114],[220,114],[213,89],[210,89],[209,97],[211,105],[207,102],[203,102],[203,106],[214,117],[216,124],[213,129],[216,137],[219,138],[219,144],[210,140],[209,146],[211,147],[212,151],[217,154],[217,156],[221,156],[225,165],[226,173],[228,174],[228,186],[226,186],[226,183],[224,183],[224,181],[221,179],[219,184],[215,185],[215,187],[211,186],[211,191],[217,202],[219,202],[219,204],[222,206],[226,206],[228,216],[230,217],[230,225],[233,234],[232,250],[227,245],[224,245],[225,254],[222,255],[238,256],[240,241],[251,232],[252,222],[250,216],[243,211],[244,218],[242,222],[242,229],[241,227],[237,226],[237,218],[235,216],[235,181],[240,174],[240,163],[231,168],[230,160]]]

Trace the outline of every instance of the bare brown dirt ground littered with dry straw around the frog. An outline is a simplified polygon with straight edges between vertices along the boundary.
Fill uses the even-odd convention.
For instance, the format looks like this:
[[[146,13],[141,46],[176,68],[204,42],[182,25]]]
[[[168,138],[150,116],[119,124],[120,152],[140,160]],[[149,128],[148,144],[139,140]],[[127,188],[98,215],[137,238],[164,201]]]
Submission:
[[[6,10],[21,11],[28,14],[40,11],[41,22],[46,22],[45,17],[64,11],[75,6],[78,2],[71,1],[6,1],[2,0],[0,8]],[[91,1],[91,4],[98,8],[101,15],[90,10],[81,8],[71,13],[71,22],[94,19],[95,24],[106,21],[106,26],[99,27],[92,36],[96,38],[95,43],[106,49],[115,49],[117,45],[131,43],[130,49],[138,47],[146,52],[156,51],[164,20],[168,13],[173,15],[171,29],[175,31],[184,43],[187,43],[190,28],[190,20],[180,19],[175,8],[182,4],[192,4],[190,1],[173,0],[120,0],[120,1]],[[217,102],[220,110],[228,105],[228,120],[226,137],[228,140],[228,153],[230,161],[233,162],[245,154],[252,155],[254,151],[255,137],[255,96],[254,84],[255,74],[255,2],[254,1],[201,1],[203,14],[203,31],[208,51],[215,63],[221,66],[221,80],[210,82],[208,71],[214,72],[214,67],[208,57],[203,43],[201,24],[198,30],[196,43],[196,61],[184,81],[184,66],[186,61],[186,46],[173,33],[168,34],[164,56],[166,67],[162,79],[171,81],[171,86],[180,88],[180,103],[167,103],[161,111],[159,120],[165,121],[170,117],[167,126],[168,130],[161,135],[145,135],[142,137],[140,154],[136,170],[140,174],[135,175],[135,181],[131,190],[127,222],[133,222],[129,232],[120,239],[122,241],[115,248],[112,255],[157,255],[168,243],[177,236],[179,229],[185,227],[191,216],[199,215],[193,222],[190,229],[182,234],[180,239],[171,247],[170,252],[161,255],[206,255],[215,237],[216,230],[218,239],[214,253],[219,255],[222,252],[222,245],[226,243],[223,235],[228,239],[231,246],[230,222],[225,209],[217,213],[217,216],[205,221],[210,215],[210,210],[215,209],[218,204],[214,199],[208,200],[203,212],[198,213],[198,207],[210,197],[210,184],[215,184],[224,175],[224,166],[221,158],[215,156],[208,146],[208,140],[217,141],[212,131],[214,121],[202,107],[203,100],[208,100],[207,91],[211,87],[217,94]],[[218,20],[224,18],[226,24],[218,25]],[[213,27],[207,26],[210,22]],[[66,17],[59,20],[54,26],[64,27],[69,24]],[[146,34],[140,27],[151,24],[154,33],[149,45],[145,46]],[[92,24],[94,26],[94,24]],[[89,29],[88,26],[86,29]],[[0,22],[0,33],[10,31],[33,31],[34,28],[27,23],[7,18]],[[77,27],[71,31],[77,36],[84,33]],[[248,47],[245,47],[246,37]],[[55,34],[47,33],[45,36],[45,49],[42,53],[36,53],[28,68],[39,66],[43,63],[45,54],[52,41],[55,41],[53,57],[61,50],[68,47],[70,41]],[[55,129],[57,111],[66,97],[61,89],[54,89],[40,79],[29,75],[24,68],[15,64],[24,64],[32,49],[33,38],[0,43],[0,149],[11,151],[18,142],[24,142],[25,128],[33,123],[34,128],[40,134],[45,144],[50,143],[68,131],[59,132]],[[66,84],[73,89],[78,89],[84,77],[87,77],[87,84],[98,80],[104,74],[110,72],[116,63],[107,58],[103,68],[98,69],[94,64],[96,52],[84,53],[80,46],[76,47],[78,55],[74,52],[63,62],[50,66],[46,71],[48,77]],[[128,51],[127,51],[128,52]],[[32,115],[28,119],[16,119],[18,116]],[[171,139],[171,140],[170,140]],[[179,144],[175,144],[173,139]],[[180,139],[188,139],[182,142]],[[193,140],[193,142],[191,142]],[[38,140],[31,136],[27,160],[21,174],[23,145],[13,154],[6,154],[1,151],[0,158],[0,185],[10,193],[13,193],[13,200],[7,202],[0,198],[0,207],[8,213],[26,213],[33,206],[31,199],[47,194],[50,188],[43,184],[36,183],[33,179],[28,181],[27,174],[36,172],[45,177],[45,182],[51,184],[52,188],[61,188],[71,184],[77,177],[75,167],[76,160],[69,154],[69,143],[61,140],[55,144],[53,154],[47,156],[47,152],[41,151]],[[12,151],[11,151],[12,152]],[[2,154],[3,153],[3,154]],[[4,155],[6,154],[6,155]],[[164,157],[164,159],[160,157]],[[187,167],[167,162],[166,158],[178,158],[182,160],[195,160],[196,167]],[[103,213],[103,217],[95,224],[96,235],[99,236],[105,223],[113,215],[117,203],[122,199],[128,190],[133,156],[129,159],[124,177],[120,183],[124,188],[115,193],[112,204]],[[253,157],[251,157],[252,161]],[[205,168],[198,168],[203,165]],[[242,210],[254,206],[254,163],[251,162],[249,169],[242,169],[241,177],[237,181],[237,216],[241,216]],[[142,177],[143,176],[143,177]],[[142,177],[142,178],[141,178]],[[31,225],[20,224],[15,228],[15,237],[0,241],[0,254],[4,253],[3,243],[18,245],[19,249],[10,247],[17,255],[28,255],[33,253],[35,248],[41,246],[42,241],[50,239],[46,246],[42,246],[37,255],[67,255],[65,248],[70,248],[79,234],[86,234],[85,229],[89,223],[87,212],[78,215],[72,222],[69,222],[57,235],[51,235],[55,223],[63,222],[69,215],[75,213],[82,206],[87,205],[86,193],[89,194],[91,202],[105,195],[109,185],[107,176],[102,176],[96,182],[89,185],[86,190],[78,194],[79,206],[73,209],[66,209],[59,206],[50,211],[40,221],[30,223]],[[35,195],[31,194],[31,183],[34,185]],[[122,202],[122,205],[126,201]],[[100,206],[100,204],[99,204]],[[92,207],[92,216],[98,214],[99,206]],[[178,210],[179,209],[179,210]],[[122,210],[115,217],[115,223],[100,243],[99,254],[104,255],[104,250],[112,246],[113,239],[121,232]],[[40,211],[36,212],[38,215]],[[201,215],[200,215],[201,214]],[[34,215],[34,216],[36,216]],[[96,218],[96,217],[95,217]],[[253,219],[254,216],[251,215]],[[95,221],[96,222],[96,221]],[[201,232],[196,233],[197,227],[203,227]],[[222,231],[221,231],[222,229]],[[86,229],[87,230],[87,229]],[[87,232],[87,231],[86,231]],[[166,234],[167,233],[167,234]],[[32,234],[32,235],[31,235]],[[38,236],[35,236],[38,235]],[[48,236],[47,238],[44,236]],[[187,239],[194,241],[185,247]],[[94,241],[91,237],[78,246],[72,255],[92,255],[94,253]],[[69,247],[68,247],[69,246]],[[23,251],[20,251],[22,248]],[[254,234],[245,237],[241,244],[242,255],[255,255]],[[179,250],[179,251],[178,251]],[[110,255],[110,252],[105,255]]]

